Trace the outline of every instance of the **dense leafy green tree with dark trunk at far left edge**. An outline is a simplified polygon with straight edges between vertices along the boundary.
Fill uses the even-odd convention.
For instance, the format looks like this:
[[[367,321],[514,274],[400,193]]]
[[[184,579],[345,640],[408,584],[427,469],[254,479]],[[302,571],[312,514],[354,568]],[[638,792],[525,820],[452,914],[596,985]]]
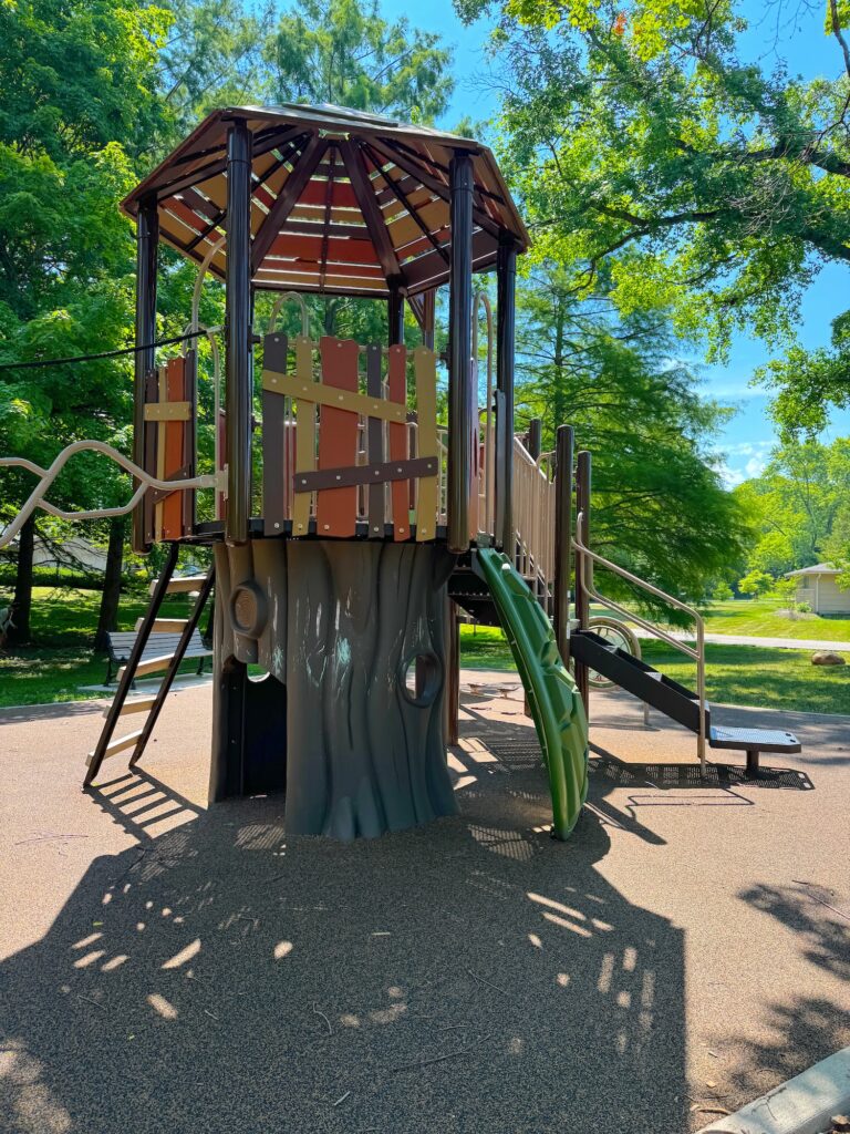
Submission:
[[[133,242],[117,203],[134,180],[130,155],[169,129],[154,74],[168,23],[161,8],[105,0],[0,8],[0,362],[129,336]],[[114,440],[129,420],[125,376],[117,363],[85,374],[0,371],[0,449],[44,465],[80,437]],[[104,476],[87,467],[69,467],[54,502],[108,502]],[[32,477],[6,475],[5,488],[8,510]],[[34,532],[32,519],[20,538],[18,641],[29,632]]]

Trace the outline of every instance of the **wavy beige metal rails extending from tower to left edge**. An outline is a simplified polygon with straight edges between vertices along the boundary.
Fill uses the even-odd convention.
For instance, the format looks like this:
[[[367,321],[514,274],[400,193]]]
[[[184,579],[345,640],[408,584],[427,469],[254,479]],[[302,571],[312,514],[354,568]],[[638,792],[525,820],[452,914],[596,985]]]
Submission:
[[[91,511],[65,511],[44,500],[43,497],[48,489],[70,458],[77,452],[102,452],[128,473],[131,473],[139,481],[139,484],[129,502],[117,508],[94,508]],[[5,548],[11,543],[36,508],[42,508],[51,516],[58,516],[60,519],[109,519],[111,516],[124,516],[131,511],[148,489],[156,489],[161,492],[176,492],[187,489],[212,489],[219,486],[218,475],[192,476],[180,481],[165,481],[160,480],[158,476],[151,476],[134,460],[119,452],[118,449],[113,449],[111,445],[107,445],[105,441],[74,441],[62,449],[50,468],[42,468],[40,465],[24,457],[0,457],[0,467],[26,468],[27,472],[41,476],[39,484],[29,494],[29,498],[15,519],[0,532],[0,548]]]

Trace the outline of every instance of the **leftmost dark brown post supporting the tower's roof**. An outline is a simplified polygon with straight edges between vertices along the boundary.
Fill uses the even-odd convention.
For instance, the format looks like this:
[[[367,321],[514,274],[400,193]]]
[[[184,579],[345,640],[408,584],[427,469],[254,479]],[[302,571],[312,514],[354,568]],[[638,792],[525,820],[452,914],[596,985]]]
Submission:
[[[136,221],[136,346],[146,350],[136,354],[133,409],[133,459],[145,464],[145,384],[147,374],[156,363],[151,346],[156,339],[156,262],[160,239],[160,218],[156,198],[150,197],[141,205]],[[138,482],[135,482],[138,484]],[[147,551],[145,542],[144,500],[133,509],[133,550]]]

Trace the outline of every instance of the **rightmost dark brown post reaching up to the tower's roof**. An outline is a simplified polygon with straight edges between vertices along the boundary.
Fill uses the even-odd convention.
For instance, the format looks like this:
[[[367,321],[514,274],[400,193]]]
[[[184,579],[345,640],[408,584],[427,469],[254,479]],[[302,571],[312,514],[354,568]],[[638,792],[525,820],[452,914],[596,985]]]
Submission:
[[[503,234],[496,260],[496,398],[503,421],[496,420],[495,539],[513,558],[513,350],[516,340],[517,248]]]

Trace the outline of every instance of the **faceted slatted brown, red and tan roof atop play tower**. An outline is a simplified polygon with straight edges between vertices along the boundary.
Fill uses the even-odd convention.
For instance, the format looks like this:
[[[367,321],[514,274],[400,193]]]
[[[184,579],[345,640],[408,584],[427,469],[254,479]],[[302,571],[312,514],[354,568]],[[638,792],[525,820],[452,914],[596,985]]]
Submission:
[[[491,151],[458,137],[330,103],[215,110],[121,203],[159,206],[160,238],[223,278],[227,139],[253,133],[252,279],[256,287],[416,295],[449,278],[449,163],[473,158],[473,265],[491,266],[500,238],[528,232]],[[213,253],[216,244],[222,247]]]

